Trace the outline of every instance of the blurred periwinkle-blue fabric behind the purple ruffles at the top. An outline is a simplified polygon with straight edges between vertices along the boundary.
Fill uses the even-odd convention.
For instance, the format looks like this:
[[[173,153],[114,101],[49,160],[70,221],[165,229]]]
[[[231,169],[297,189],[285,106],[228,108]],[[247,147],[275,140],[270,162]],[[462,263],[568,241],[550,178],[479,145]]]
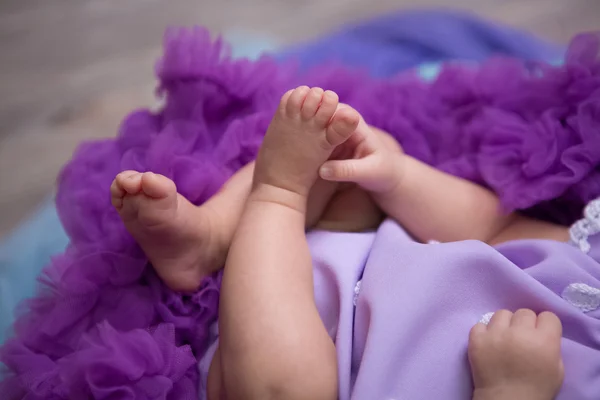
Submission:
[[[424,63],[481,61],[493,54],[557,60],[560,46],[529,33],[451,11],[399,12],[345,28],[315,42],[283,51],[305,68],[323,60],[364,67],[386,77]]]

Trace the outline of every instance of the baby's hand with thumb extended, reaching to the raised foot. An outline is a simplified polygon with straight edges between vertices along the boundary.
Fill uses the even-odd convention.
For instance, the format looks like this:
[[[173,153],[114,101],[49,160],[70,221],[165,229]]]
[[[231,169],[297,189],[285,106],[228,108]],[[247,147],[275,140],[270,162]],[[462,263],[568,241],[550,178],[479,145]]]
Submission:
[[[386,193],[402,178],[404,154],[398,142],[362,119],[356,131],[319,170],[321,178],[354,182],[374,193]]]

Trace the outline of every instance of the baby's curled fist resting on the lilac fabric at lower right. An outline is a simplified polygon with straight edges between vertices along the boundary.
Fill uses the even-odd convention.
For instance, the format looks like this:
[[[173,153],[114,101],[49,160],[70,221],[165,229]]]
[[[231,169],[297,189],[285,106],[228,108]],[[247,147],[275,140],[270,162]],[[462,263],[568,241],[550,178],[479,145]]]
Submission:
[[[562,325],[550,312],[501,310],[469,336],[474,400],[551,400],[562,385]]]

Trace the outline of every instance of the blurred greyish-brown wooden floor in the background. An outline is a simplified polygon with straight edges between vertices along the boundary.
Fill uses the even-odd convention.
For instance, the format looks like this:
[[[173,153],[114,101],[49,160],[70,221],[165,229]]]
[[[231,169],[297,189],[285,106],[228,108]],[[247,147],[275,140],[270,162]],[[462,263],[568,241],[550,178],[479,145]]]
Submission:
[[[600,28],[600,0],[2,0],[0,237],[52,193],[78,142],[152,104],[167,25],[305,40],[391,10],[447,6],[566,42]]]

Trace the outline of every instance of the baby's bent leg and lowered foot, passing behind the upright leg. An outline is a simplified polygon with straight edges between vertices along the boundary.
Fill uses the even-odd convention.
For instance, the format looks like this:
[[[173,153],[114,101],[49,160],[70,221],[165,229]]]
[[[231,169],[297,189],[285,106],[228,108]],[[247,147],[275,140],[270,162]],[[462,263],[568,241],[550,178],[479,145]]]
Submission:
[[[252,186],[254,162],[197,207],[175,183],[152,172],[125,171],[111,186],[112,203],[157,274],[173,290],[193,291],[222,268]],[[312,227],[338,184],[319,180],[310,196],[306,224]]]

